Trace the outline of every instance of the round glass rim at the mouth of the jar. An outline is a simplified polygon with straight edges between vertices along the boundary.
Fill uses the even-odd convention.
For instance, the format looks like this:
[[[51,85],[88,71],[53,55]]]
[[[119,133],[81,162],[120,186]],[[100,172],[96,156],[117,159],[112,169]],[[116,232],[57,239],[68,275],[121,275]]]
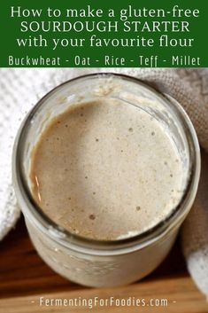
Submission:
[[[77,234],[74,234],[70,231],[65,230],[63,227],[58,226],[57,223],[52,221],[48,215],[43,213],[41,207],[39,207],[35,200],[33,199],[31,192],[29,192],[27,183],[25,181],[24,173],[22,170],[21,163],[21,153],[24,149],[24,143],[26,141],[27,128],[30,125],[30,121],[34,114],[44,105],[45,100],[51,97],[54,93],[57,92],[61,87],[72,82],[79,82],[88,78],[107,78],[107,77],[120,77],[128,82],[135,82],[142,85],[146,89],[154,92],[158,97],[163,98],[169,103],[173,108],[180,113],[181,121],[184,123],[183,127],[185,128],[186,135],[189,136],[189,149],[192,153],[192,158],[190,158],[190,176],[189,182],[186,185],[185,192],[181,198],[179,204],[173,208],[172,212],[169,215],[166,215],[164,219],[160,220],[156,225],[150,227],[147,231],[143,231],[135,236],[126,238],[126,239],[116,239],[116,240],[99,240],[99,239],[88,239],[81,237]],[[58,240],[63,246],[80,246],[88,249],[98,249],[98,250],[120,250],[128,249],[132,246],[147,246],[150,243],[155,242],[159,237],[164,236],[167,232],[171,231],[177,223],[185,218],[189,212],[193,200],[196,196],[196,189],[199,181],[200,175],[200,149],[198,140],[196,137],[196,131],[192,125],[192,122],[189,120],[189,116],[185,113],[184,109],[181,107],[178,101],[174,98],[166,95],[148,82],[143,82],[142,80],[126,75],[126,74],[115,74],[111,72],[107,73],[93,73],[77,76],[73,79],[70,79],[66,82],[59,84],[54,89],[50,90],[43,98],[41,98],[37,104],[32,108],[32,110],[27,114],[27,117],[22,122],[21,127],[19,128],[18,135],[15,139],[15,144],[13,147],[12,155],[12,176],[13,184],[15,187],[15,192],[17,194],[18,202],[25,203],[28,209],[27,212],[23,213],[29,215],[31,219],[39,226],[39,228],[47,232],[49,236],[52,236],[53,239]],[[21,207],[21,206],[20,206]]]

